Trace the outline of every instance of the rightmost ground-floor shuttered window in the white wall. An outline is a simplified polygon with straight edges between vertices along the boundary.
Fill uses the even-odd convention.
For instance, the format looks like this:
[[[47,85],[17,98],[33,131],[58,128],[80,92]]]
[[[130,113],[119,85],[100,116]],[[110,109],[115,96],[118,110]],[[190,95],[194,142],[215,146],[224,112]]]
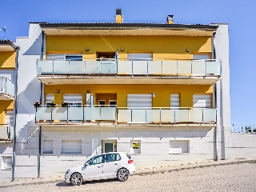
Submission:
[[[190,152],[189,140],[170,140],[169,154],[183,154]]]

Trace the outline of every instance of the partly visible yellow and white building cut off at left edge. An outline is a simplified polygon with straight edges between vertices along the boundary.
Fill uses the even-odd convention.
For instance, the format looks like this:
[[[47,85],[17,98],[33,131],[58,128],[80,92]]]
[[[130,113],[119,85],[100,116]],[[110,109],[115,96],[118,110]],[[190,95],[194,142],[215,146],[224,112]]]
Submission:
[[[18,47],[0,40],[0,174],[11,177],[14,141],[14,98]]]

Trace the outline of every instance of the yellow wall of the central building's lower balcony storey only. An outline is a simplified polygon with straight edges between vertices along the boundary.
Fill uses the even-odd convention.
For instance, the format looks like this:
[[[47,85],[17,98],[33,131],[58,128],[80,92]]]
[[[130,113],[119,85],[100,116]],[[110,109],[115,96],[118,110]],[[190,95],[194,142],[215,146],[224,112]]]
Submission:
[[[60,92],[57,93],[57,90]],[[82,94],[85,104],[86,91],[94,94],[94,103],[98,100],[116,100],[118,107],[127,106],[127,94],[155,94],[152,101],[153,107],[170,107],[170,94],[180,94],[181,107],[193,107],[193,94],[213,93],[212,86],[191,85],[55,85],[46,86],[45,94],[54,94],[56,104],[62,104],[63,94]],[[99,96],[98,96],[99,95]]]

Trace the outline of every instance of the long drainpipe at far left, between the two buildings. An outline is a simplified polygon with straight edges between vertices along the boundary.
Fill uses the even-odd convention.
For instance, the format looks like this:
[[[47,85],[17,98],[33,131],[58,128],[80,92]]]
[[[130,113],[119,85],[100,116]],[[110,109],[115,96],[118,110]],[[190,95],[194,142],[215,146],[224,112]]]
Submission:
[[[15,160],[16,160],[16,118],[17,118],[17,93],[18,93],[18,50],[20,48],[17,47],[16,49],[16,58],[15,58],[15,86],[14,86],[14,145],[13,145],[13,157],[12,157],[12,167],[11,167],[11,181],[14,182],[15,180]]]

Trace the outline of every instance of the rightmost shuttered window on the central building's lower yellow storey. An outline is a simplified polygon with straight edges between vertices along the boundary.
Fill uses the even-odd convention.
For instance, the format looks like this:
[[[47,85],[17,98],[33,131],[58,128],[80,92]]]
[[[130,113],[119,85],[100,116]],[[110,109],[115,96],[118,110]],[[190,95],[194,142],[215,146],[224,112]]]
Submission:
[[[211,95],[210,94],[194,94],[193,95],[194,108],[210,108]]]

